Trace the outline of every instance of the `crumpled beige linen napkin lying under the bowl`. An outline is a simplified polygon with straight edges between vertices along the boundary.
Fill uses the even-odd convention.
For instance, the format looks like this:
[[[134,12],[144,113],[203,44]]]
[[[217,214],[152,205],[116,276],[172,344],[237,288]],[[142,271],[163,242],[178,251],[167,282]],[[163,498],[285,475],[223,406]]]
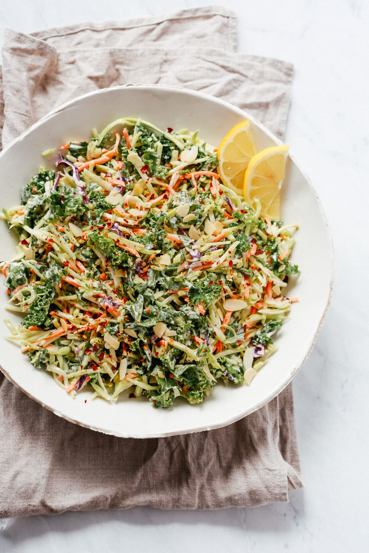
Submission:
[[[33,35],[8,30],[3,145],[60,103],[127,82],[205,91],[282,136],[292,66],[235,49],[235,17],[215,7]],[[60,419],[1,375],[0,432],[0,517],[134,505],[245,507],[286,501],[289,488],[303,485],[290,386],[223,429],[131,440]]]

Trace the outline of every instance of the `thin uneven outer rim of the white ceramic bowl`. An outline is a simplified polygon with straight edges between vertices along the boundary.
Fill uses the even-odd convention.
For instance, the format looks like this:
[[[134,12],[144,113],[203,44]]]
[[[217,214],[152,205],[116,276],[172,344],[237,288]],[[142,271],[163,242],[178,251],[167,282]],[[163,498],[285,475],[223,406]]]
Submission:
[[[205,92],[195,91],[195,90],[191,90],[190,88],[185,88],[185,87],[181,87],[181,86],[128,83],[126,85],[118,85],[118,86],[113,86],[113,87],[100,88],[98,90],[87,92],[87,93],[82,94],[80,96],[76,96],[76,97],[72,98],[72,100],[64,102],[60,106],[52,109],[50,112],[46,113],[43,117],[41,117],[37,122],[35,122],[32,126],[30,126],[28,129],[26,129],[23,133],[21,133],[18,137],[14,138],[11,142],[9,142],[9,144],[7,144],[6,147],[4,147],[2,149],[2,151],[0,152],[0,159],[7,153],[7,151],[14,144],[16,144],[18,142],[22,142],[22,140],[25,137],[27,137],[28,134],[32,133],[35,129],[42,126],[42,124],[44,122],[48,121],[48,119],[54,117],[56,114],[58,114],[60,112],[63,112],[65,109],[69,108],[75,102],[80,101],[80,100],[84,100],[84,98],[88,98],[90,96],[98,96],[98,95],[104,94],[108,91],[122,90],[122,89],[128,88],[128,87],[129,88],[131,88],[131,87],[136,88],[137,87],[139,89],[141,89],[141,88],[147,88],[147,89],[155,88],[157,90],[159,89],[159,90],[162,90],[162,91],[167,91],[169,93],[171,91],[180,91],[180,92],[185,93],[189,96],[202,97],[207,101],[211,101],[211,102],[218,103],[220,105],[224,105],[227,108],[231,108],[233,112],[238,112],[240,115],[244,116],[245,119],[250,119],[253,123],[256,124],[257,127],[261,128],[261,130],[264,133],[266,133],[269,138],[272,138],[272,140],[274,142],[276,142],[278,145],[284,144],[282,142],[282,140],[280,140],[278,137],[276,137],[275,134],[273,134],[271,131],[269,131],[269,129],[267,127],[265,127],[263,123],[258,121],[258,119],[256,119],[256,117],[253,117],[251,114],[243,111],[243,109],[238,108],[237,106],[233,106],[230,102],[227,102],[225,100],[221,100],[221,98],[216,98],[215,96],[211,96],[209,94],[206,94]],[[303,177],[306,180],[306,182],[308,183],[311,191],[314,193],[316,202],[318,204],[320,216],[322,217],[322,219],[325,223],[327,238],[328,238],[328,242],[329,242],[329,246],[330,246],[329,252],[326,252],[326,260],[328,260],[328,262],[329,262],[329,269],[330,269],[329,294],[328,294],[328,298],[326,300],[326,304],[324,306],[323,313],[321,314],[318,326],[316,327],[316,331],[315,331],[313,340],[311,341],[309,347],[305,351],[305,355],[304,355],[303,359],[299,362],[297,367],[294,367],[292,369],[292,371],[290,371],[290,373],[287,374],[287,376],[280,383],[279,387],[277,389],[274,389],[273,392],[269,393],[266,397],[264,397],[264,399],[260,400],[256,405],[253,405],[251,408],[246,409],[241,415],[237,414],[237,415],[231,416],[227,420],[223,421],[221,424],[198,426],[198,427],[194,427],[193,429],[189,429],[189,430],[180,430],[180,431],[173,431],[173,432],[168,431],[168,432],[163,432],[160,435],[157,432],[156,433],[155,432],[148,432],[145,435],[139,435],[139,436],[136,435],[135,436],[132,433],[127,434],[127,432],[124,432],[124,431],[119,432],[119,433],[117,431],[109,432],[107,429],[101,429],[100,427],[89,425],[89,424],[84,424],[80,421],[72,419],[69,416],[65,415],[64,413],[61,413],[61,411],[53,409],[53,407],[51,405],[44,403],[44,401],[41,401],[41,400],[35,398],[31,393],[27,392],[27,390],[25,390],[24,388],[22,388],[21,385],[16,383],[13,380],[13,378],[11,377],[11,375],[8,373],[8,371],[0,365],[1,372],[7,377],[8,380],[10,380],[10,382],[12,382],[12,384],[14,384],[14,386],[16,388],[21,390],[30,399],[33,399],[39,405],[43,406],[45,409],[48,409],[49,411],[51,411],[55,415],[60,416],[61,418],[65,419],[68,422],[73,422],[74,424],[76,424],[78,426],[82,426],[82,427],[87,428],[89,430],[94,430],[94,431],[97,431],[97,432],[101,432],[102,434],[112,435],[112,436],[117,436],[117,437],[122,437],[122,438],[148,439],[148,438],[155,438],[155,437],[157,438],[157,437],[169,437],[169,436],[175,436],[175,435],[184,435],[184,434],[194,434],[195,432],[201,432],[201,431],[206,431],[206,430],[215,430],[217,428],[222,428],[224,426],[228,426],[228,425],[232,424],[233,422],[237,422],[238,420],[243,419],[245,416],[248,416],[251,413],[254,413],[254,411],[257,411],[258,409],[261,409],[264,405],[267,405],[269,403],[269,401],[272,401],[274,398],[277,397],[278,394],[280,394],[285,388],[287,388],[288,384],[292,381],[292,379],[295,377],[295,375],[297,375],[300,368],[304,365],[304,363],[308,359],[308,357],[309,357],[309,355],[310,355],[310,353],[311,353],[311,351],[312,351],[312,349],[315,345],[316,339],[318,338],[321,327],[324,324],[325,317],[326,317],[328,308],[330,306],[332,291],[333,291],[333,284],[334,284],[334,243],[333,243],[333,239],[332,239],[331,229],[330,229],[327,217],[325,215],[324,207],[323,207],[323,205],[320,201],[320,198],[319,198],[319,196],[318,196],[318,194],[315,190],[315,187],[314,187],[313,183],[311,182],[309,176],[305,173],[305,171],[301,168],[299,163],[295,160],[294,155],[292,155],[290,153],[288,155],[289,155],[289,158],[293,161],[296,168],[303,175]]]

